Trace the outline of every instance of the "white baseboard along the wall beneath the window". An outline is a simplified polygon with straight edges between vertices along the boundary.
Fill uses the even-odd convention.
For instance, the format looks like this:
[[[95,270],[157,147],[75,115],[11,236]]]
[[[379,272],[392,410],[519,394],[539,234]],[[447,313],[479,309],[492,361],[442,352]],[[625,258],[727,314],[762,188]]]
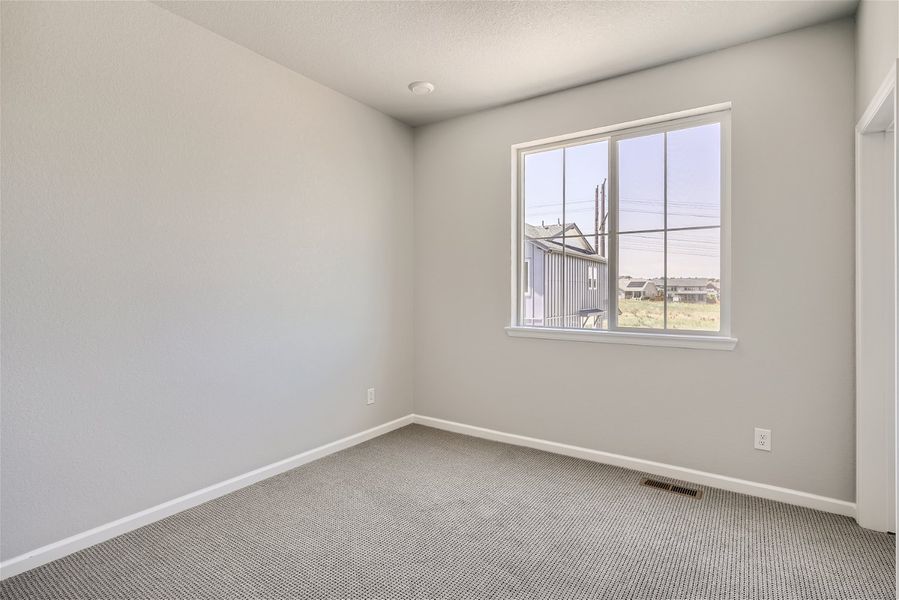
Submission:
[[[621,454],[612,454],[600,450],[570,446],[568,444],[560,444],[558,442],[515,435],[514,433],[505,433],[494,429],[485,429],[483,427],[475,427],[473,425],[425,417],[423,415],[414,415],[414,422],[428,427],[462,433],[496,442],[505,442],[516,446],[536,448],[537,450],[545,450],[546,452],[552,452],[554,454],[573,456],[575,458],[614,465],[616,467],[624,467],[626,469],[642,471],[661,477],[689,481],[730,492],[757,496],[768,500],[777,500],[778,502],[785,502],[786,504],[814,508],[815,510],[822,510],[855,518],[855,503],[837,500],[836,498],[818,496],[816,494],[809,494],[808,492],[800,492],[798,490],[768,485],[767,483],[757,483],[755,481],[737,479],[736,477],[728,477],[727,475],[718,475],[716,473],[707,473],[705,471],[697,471],[685,467],[676,467],[674,465],[644,460],[642,458],[632,458],[630,456],[622,456]]]

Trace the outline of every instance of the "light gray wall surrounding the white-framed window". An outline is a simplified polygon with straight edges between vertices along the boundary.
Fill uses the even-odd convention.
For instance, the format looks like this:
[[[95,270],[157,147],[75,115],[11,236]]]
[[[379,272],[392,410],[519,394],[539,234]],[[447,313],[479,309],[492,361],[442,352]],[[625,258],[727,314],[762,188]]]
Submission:
[[[417,129],[416,413],[852,500],[853,34],[847,19]],[[507,337],[509,147],[728,100],[736,350]]]

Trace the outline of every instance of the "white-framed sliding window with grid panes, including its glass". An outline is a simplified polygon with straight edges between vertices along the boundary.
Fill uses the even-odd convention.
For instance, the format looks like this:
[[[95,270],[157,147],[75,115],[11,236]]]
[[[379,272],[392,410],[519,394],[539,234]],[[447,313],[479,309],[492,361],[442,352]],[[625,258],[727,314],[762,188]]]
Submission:
[[[515,146],[510,335],[732,348],[729,136],[719,105]]]

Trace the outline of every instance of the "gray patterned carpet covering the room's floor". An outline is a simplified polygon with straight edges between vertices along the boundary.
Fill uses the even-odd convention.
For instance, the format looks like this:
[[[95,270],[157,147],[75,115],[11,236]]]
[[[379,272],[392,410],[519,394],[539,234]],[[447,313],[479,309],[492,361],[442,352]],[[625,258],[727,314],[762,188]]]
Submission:
[[[2,598],[895,597],[852,519],[412,425],[0,584]]]

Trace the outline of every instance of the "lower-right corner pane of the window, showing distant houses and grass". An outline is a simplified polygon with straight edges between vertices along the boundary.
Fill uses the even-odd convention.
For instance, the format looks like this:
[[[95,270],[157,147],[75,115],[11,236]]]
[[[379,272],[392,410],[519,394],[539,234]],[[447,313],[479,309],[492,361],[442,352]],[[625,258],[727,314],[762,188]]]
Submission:
[[[668,328],[721,329],[721,230],[668,232]]]

